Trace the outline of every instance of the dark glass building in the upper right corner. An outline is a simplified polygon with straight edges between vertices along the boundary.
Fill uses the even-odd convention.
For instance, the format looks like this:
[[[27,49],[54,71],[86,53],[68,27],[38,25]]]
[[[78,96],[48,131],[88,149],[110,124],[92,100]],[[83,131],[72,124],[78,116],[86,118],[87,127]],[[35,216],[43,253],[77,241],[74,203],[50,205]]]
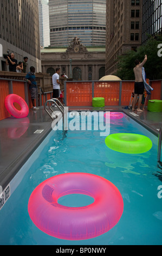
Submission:
[[[143,0],[142,19],[142,44],[148,39],[148,35],[162,34],[162,1]]]

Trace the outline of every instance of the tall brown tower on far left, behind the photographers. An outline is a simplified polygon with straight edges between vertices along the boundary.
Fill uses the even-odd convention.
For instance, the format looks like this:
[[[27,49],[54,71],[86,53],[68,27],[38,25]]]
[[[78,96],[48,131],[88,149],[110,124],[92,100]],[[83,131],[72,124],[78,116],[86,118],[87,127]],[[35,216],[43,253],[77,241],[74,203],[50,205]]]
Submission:
[[[38,0],[0,2],[0,45],[3,53],[14,52],[19,61],[28,57],[28,69],[34,65],[41,71]],[[0,70],[8,70],[0,56]]]

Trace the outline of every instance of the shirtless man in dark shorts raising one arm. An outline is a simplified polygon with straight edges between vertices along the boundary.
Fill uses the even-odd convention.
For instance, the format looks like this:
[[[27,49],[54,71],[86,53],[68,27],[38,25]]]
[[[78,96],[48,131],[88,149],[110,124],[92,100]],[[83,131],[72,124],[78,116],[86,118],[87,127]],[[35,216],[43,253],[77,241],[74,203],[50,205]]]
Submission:
[[[132,111],[134,111],[135,103],[137,102],[137,97],[139,96],[138,100],[138,107],[137,111],[143,111],[140,109],[140,105],[142,102],[142,95],[144,94],[144,80],[142,78],[142,66],[147,62],[147,55],[145,55],[144,60],[142,63],[137,59],[135,60],[135,68],[133,69],[134,71],[134,76],[135,76],[135,82],[134,82],[134,99],[133,99],[133,105],[132,105]]]

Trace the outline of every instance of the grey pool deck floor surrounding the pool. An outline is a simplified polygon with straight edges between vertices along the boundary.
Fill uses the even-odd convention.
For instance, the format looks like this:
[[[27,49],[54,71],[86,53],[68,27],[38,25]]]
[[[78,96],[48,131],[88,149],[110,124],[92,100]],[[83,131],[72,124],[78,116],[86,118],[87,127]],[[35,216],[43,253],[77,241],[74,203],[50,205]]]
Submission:
[[[69,111],[122,111],[158,136],[162,126],[162,112],[143,112],[124,109],[124,106],[69,107]],[[38,145],[51,131],[52,120],[44,111],[29,110],[27,118],[10,117],[0,121],[0,185],[4,188],[20,170]],[[37,133],[41,131],[41,133]],[[36,132],[36,133],[35,133]]]

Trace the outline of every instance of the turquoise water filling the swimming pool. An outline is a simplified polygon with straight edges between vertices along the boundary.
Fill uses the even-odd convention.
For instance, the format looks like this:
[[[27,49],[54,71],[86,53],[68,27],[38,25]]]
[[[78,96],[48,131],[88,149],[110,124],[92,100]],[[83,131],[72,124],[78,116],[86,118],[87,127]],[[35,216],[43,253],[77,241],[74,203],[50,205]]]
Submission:
[[[80,117],[81,118],[81,117]],[[72,119],[70,119],[72,120]],[[46,140],[10,182],[11,196],[0,211],[1,245],[161,245],[162,198],[158,198],[158,138],[126,115],[114,120],[110,133],[138,133],[153,143],[144,154],[108,149],[100,131],[51,131]],[[124,200],[120,221],[94,239],[67,241],[39,230],[28,215],[31,192],[42,181],[63,173],[92,173],[113,182]],[[70,195],[59,203],[83,206],[92,198]]]

